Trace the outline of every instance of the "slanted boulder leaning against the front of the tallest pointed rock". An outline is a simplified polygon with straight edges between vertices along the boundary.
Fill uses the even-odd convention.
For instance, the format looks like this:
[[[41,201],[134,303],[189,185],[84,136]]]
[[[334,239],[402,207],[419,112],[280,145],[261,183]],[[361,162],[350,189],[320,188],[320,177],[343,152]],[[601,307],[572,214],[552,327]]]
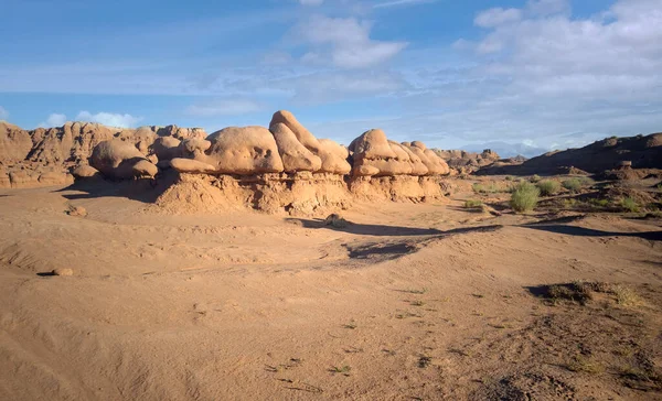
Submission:
[[[285,123],[275,123],[269,130],[274,134],[278,153],[282,159],[282,166],[287,173],[316,172],[322,167],[322,160],[303,147]]]

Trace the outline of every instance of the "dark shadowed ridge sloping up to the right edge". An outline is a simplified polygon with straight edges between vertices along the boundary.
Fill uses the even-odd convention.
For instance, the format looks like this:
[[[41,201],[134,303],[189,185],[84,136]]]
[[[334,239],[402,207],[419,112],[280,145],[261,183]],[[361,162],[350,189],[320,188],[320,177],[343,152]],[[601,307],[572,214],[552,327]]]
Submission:
[[[554,175],[568,172],[601,174],[627,164],[631,169],[662,169],[662,133],[611,137],[579,149],[548,152],[521,164],[494,163],[479,175]]]

